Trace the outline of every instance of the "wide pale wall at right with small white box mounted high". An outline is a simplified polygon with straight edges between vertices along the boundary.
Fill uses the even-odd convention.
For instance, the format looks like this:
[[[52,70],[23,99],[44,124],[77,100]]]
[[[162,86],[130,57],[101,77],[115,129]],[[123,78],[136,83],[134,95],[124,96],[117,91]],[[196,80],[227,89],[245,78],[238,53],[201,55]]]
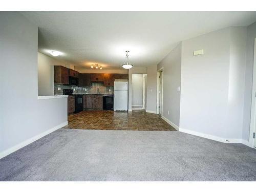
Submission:
[[[182,41],[181,129],[241,139],[244,41],[244,28],[226,28]],[[194,56],[199,49],[204,54]]]

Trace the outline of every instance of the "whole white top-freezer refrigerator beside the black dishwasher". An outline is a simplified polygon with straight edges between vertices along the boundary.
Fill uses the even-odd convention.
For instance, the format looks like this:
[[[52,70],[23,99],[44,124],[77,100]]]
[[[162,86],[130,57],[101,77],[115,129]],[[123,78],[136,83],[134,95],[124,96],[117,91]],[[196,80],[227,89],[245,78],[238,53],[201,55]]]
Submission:
[[[128,82],[114,82],[114,111],[128,110]]]

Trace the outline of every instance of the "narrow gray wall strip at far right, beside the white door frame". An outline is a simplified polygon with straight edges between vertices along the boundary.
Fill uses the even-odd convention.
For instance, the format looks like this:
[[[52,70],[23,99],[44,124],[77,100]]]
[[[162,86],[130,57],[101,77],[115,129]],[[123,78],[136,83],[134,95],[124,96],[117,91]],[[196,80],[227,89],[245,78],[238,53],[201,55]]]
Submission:
[[[246,69],[245,69],[245,95],[244,95],[244,120],[242,139],[249,140],[251,91],[253,72],[254,38],[256,37],[256,22],[247,27]]]

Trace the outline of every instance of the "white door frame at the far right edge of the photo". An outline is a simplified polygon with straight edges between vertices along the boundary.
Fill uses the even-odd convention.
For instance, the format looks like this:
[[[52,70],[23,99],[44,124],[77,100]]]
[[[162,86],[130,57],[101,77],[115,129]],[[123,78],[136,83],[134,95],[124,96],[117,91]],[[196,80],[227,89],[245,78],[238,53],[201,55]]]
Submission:
[[[256,146],[253,133],[256,133],[256,38],[254,38],[254,55],[253,55],[253,73],[252,73],[252,92],[251,92],[251,118],[250,118],[250,134],[249,145],[254,148]]]

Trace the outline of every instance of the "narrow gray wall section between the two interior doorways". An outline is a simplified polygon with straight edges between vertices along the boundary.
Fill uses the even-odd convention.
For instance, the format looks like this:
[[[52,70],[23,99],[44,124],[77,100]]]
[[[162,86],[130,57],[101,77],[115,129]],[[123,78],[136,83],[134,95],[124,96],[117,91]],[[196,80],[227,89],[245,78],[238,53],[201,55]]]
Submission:
[[[146,111],[156,113],[157,65],[147,67]]]

